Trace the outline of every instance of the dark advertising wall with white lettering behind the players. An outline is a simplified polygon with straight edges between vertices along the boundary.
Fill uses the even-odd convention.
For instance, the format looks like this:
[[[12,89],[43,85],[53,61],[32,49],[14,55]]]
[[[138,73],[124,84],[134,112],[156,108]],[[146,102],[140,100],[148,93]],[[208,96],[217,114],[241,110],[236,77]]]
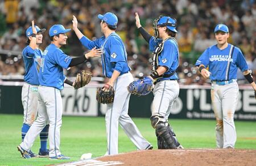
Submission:
[[[61,91],[63,115],[104,116],[106,105],[97,102],[97,87],[88,86],[79,90],[65,87]],[[21,91],[22,86],[0,86],[0,113],[23,114]],[[152,93],[141,97],[131,95],[129,115],[150,118],[153,97]],[[210,102],[210,86],[180,86],[179,98],[173,105],[170,118],[214,119]],[[234,118],[256,120],[256,100],[251,87],[240,87]]]

